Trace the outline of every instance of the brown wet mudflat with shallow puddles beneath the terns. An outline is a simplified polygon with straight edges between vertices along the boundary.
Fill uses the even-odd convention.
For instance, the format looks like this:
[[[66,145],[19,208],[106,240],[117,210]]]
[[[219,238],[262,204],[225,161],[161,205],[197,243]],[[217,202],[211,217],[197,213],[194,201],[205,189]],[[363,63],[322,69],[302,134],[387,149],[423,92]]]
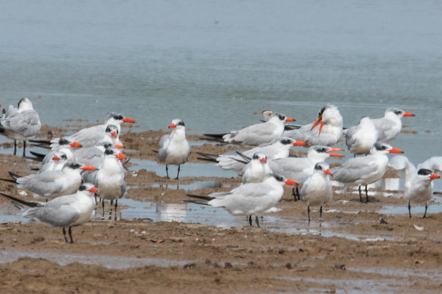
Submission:
[[[59,130],[60,134],[63,132]],[[130,149],[126,156],[156,160],[152,150],[165,133],[126,132],[121,136]],[[201,144],[204,141],[199,138],[188,136],[200,144],[192,146],[192,153],[243,150],[237,146]],[[295,150],[296,154],[303,152]],[[191,158],[195,164],[204,164],[197,156]],[[32,172],[33,164],[37,162],[1,154],[0,177],[8,179],[8,171],[27,175]],[[213,165],[208,163],[207,167],[209,164]],[[184,164],[182,171],[197,167],[201,165]],[[117,213],[107,202],[102,217],[98,205],[93,221],[72,229],[74,244],[64,242],[61,228],[29,223],[10,201],[0,197],[1,214],[18,220],[0,224],[1,292],[440,293],[442,290],[442,212],[438,198],[430,203],[426,219],[421,218],[423,208],[415,206],[410,219],[403,212],[407,201],[400,198],[401,191],[371,188],[370,201],[360,203],[354,188],[335,187],[333,201],[324,205],[319,227],[319,207],[312,209],[312,222],[308,225],[306,206],[294,201],[290,188],[286,188],[277,205],[282,210],[265,214],[260,219],[262,228],[258,229],[255,224],[248,226],[245,217],[230,216],[221,208],[182,201],[191,199],[186,196],[189,190],[191,194],[231,190],[240,184],[240,177],[223,177],[218,167],[213,170],[219,169],[220,176],[193,175],[179,180],[146,171],[141,168],[141,161],[139,165],[128,164],[128,168],[126,182],[130,189],[119,201]],[[387,179],[395,177],[395,173],[386,175]],[[12,195],[21,191],[4,181],[0,181],[0,189]],[[392,196],[385,197],[387,194]],[[135,209],[134,205],[139,206],[139,217],[128,213]],[[164,221],[170,220],[168,214],[181,222]],[[187,222],[195,219],[199,223]]]

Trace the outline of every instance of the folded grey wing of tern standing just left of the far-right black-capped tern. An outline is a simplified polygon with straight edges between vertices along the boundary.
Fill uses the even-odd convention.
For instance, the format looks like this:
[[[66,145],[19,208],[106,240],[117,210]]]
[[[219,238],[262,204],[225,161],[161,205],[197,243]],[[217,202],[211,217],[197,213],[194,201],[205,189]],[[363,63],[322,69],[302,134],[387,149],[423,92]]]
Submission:
[[[333,179],[342,183],[353,183],[359,179],[370,178],[377,171],[378,164],[366,157],[356,157],[347,160],[343,166],[331,169]]]

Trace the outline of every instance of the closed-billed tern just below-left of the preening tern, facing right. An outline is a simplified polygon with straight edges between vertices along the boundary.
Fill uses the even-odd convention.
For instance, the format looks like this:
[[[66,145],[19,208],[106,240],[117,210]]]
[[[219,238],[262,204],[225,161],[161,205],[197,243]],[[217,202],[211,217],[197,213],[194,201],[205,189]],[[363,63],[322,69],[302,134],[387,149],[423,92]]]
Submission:
[[[274,139],[272,145],[267,145],[263,147],[255,147],[253,149],[242,152],[243,155],[251,157],[256,152],[263,152],[266,154],[267,159],[278,159],[289,157],[289,150],[293,146],[306,146],[303,141],[296,141],[292,138],[280,137]],[[242,175],[244,166],[248,161],[242,160],[239,155],[228,155],[223,154],[220,156],[208,154],[208,153],[198,153],[199,155],[205,156],[210,160],[217,162],[217,165],[222,169],[235,171],[238,175]]]

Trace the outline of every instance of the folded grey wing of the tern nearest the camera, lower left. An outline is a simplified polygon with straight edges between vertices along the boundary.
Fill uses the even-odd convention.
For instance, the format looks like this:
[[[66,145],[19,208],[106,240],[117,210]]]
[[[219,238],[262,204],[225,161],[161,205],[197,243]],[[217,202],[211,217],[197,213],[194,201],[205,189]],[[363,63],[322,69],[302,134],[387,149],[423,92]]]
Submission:
[[[28,209],[23,213],[24,217],[36,218],[53,227],[69,227],[80,217],[78,209],[69,205],[38,206]]]

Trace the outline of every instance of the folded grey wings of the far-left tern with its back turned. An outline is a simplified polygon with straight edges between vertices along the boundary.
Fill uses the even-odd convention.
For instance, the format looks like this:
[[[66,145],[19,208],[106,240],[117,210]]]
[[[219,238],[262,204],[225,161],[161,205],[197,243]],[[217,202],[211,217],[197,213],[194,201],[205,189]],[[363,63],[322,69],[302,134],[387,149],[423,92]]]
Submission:
[[[24,137],[36,136],[40,132],[42,126],[38,113],[34,110],[16,112],[13,115],[9,115],[4,119],[4,123],[2,124],[5,128],[22,134]],[[8,127],[6,125],[8,125]]]

